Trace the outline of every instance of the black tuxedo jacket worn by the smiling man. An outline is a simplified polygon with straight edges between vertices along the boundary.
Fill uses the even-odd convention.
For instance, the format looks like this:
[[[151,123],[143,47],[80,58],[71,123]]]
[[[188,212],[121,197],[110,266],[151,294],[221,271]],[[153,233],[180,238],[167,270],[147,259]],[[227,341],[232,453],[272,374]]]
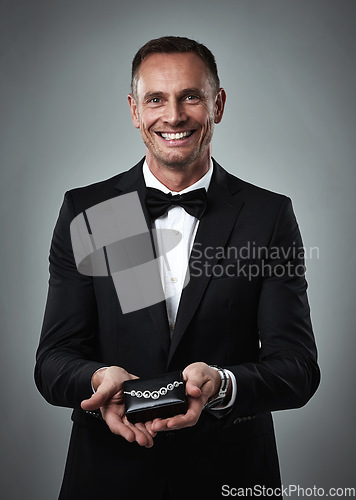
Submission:
[[[47,401],[74,408],[61,498],[159,499],[170,490],[169,498],[214,499],[223,485],[278,486],[271,412],[304,405],[320,377],[291,201],[214,161],[171,341],[165,303],[122,314],[111,277],[78,273],[70,239],[76,215],[133,191],[151,228],[142,165],[67,192],[53,235],[35,379]],[[150,450],[80,409],[100,367],[149,377],[195,361],[235,374],[233,408],[220,418],[203,411],[196,426],[160,434]]]

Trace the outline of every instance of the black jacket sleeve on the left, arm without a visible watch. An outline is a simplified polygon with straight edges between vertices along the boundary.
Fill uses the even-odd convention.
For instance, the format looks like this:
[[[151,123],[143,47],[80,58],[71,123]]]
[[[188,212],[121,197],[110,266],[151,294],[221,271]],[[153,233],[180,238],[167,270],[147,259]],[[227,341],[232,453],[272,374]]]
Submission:
[[[70,223],[76,216],[66,193],[49,257],[49,289],[35,382],[51,404],[77,408],[90,397],[91,376],[105,364],[96,360],[98,318],[93,279],[76,268]]]

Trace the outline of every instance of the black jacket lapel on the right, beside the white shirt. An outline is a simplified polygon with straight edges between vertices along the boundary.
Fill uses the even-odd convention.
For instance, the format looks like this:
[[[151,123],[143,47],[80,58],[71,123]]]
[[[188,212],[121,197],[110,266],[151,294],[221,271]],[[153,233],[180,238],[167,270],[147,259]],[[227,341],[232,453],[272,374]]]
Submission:
[[[189,261],[190,281],[182,292],[168,364],[200,304],[211,270],[218,261],[217,252],[211,250],[226,245],[243,207],[243,201],[236,195],[239,190],[238,179],[225,172],[214,161],[214,175],[207,193],[208,210],[200,221],[192,249]],[[209,252],[205,251],[207,248]]]

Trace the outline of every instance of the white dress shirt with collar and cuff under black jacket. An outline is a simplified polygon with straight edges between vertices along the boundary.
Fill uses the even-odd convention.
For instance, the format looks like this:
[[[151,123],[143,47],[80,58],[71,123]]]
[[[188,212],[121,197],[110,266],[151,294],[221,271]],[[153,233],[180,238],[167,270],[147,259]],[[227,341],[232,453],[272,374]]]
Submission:
[[[188,193],[194,189],[205,188],[208,190],[211,177],[213,175],[213,163],[208,172],[197,182],[191,186],[179,191],[179,194]],[[159,189],[164,193],[178,194],[178,192],[171,191],[164,184],[162,184],[150,171],[147,162],[143,165],[143,176],[147,187]],[[174,206],[168,210],[165,215],[158,217],[152,222],[152,228],[157,230],[157,255],[159,258],[159,269],[162,280],[162,287],[166,297],[167,316],[169,321],[169,328],[171,336],[174,334],[174,326],[177,317],[178,306],[180,297],[185,284],[185,277],[188,269],[188,262],[192,246],[194,243],[195,235],[199,226],[199,220],[194,216],[188,214],[184,208]],[[166,252],[164,239],[161,237],[161,229],[171,229],[178,231],[182,235],[179,244],[172,250]],[[232,396],[226,406],[214,408],[213,410],[221,410],[229,408],[233,405],[236,399],[237,384],[235,376],[232,372],[227,370],[232,381]]]

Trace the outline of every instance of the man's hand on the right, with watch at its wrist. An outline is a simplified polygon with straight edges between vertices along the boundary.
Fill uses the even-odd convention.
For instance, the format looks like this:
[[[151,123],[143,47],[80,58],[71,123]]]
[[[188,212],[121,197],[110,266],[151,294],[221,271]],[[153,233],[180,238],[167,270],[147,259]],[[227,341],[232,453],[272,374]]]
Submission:
[[[146,428],[149,432],[157,433],[192,427],[198,422],[205,403],[219,392],[220,375],[217,370],[210,368],[206,363],[192,363],[187,366],[183,371],[183,377],[186,381],[187,413],[166,419],[156,418],[153,422],[147,422]]]

